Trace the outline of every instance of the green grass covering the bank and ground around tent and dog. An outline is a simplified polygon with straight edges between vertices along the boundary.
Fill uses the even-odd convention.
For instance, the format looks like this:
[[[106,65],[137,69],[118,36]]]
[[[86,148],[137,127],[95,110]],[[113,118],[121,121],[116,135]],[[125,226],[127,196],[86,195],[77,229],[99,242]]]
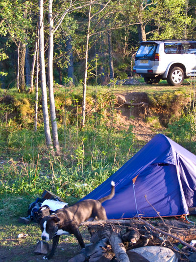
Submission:
[[[73,204],[115,173],[146,142],[137,141],[132,126],[119,125],[116,97],[120,92],[147,92],[154,115],[146,120],[153,130],[160,127],[156,115],[157,105],[168,112],[174,97],[178,100],[190,94],[191,85],[170,87],[165,81],[156,86],[142,83],[133,86],[88,87],[86,126],[80,130],[82,87],[55,88],[58,116],[58,133],[61,155],[47,150],[43,129],[41,105],[38,131],[33,131],[34,94],[17,94],[16,88],[7,95],[14,97],[10,105],[0,104],[0,259],[2,261],[37,261],[34,255],[36,241],[40,239],[38,225],[18,223],[20,216],[27,216],[28,204],[47,189],[65,202]],[[1,97],[4,95],[0,90]],[[66,98],[66,102],[65,102]],[[39,99],[41,102],[41,98]],[[78,102],[77,102],[78,101]],[[163,103],[163,101],[165,101]],[[183,100],[184,101],[184,100]],[[65,123],[66,103],[66,127]],[[153,104],[154,103],[154,104]],[[7,113],[7,120],[6,114]],[[177,143],[196,153],[194,115],[189,111],[171,116],[167,134]],[[186,114],[185,114],[186,113]],[[172,118],[173,117],[173,118]],[[83,186],[87,184],[87,186]],[[28,238],[18,239],[18,233]],[[85,231],[84,231],[85,233]],[[79,252],[74,237],[62,238],[58,259],[67,261]],[[65,250],[61,250],[61,247]],[[67,251],[68,250],[68,251]],[[5,259],[3,259],[5,258]],[[51,260],[55,261],[54,260]]]

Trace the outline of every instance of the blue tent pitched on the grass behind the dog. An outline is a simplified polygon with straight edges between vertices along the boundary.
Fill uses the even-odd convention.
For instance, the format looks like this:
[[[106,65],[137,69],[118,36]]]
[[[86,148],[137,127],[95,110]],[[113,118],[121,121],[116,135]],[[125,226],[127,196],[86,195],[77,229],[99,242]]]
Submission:
[[[176,216],[189,214],[190,207],[196,206],[196,155],[163,134],[156,135],[83,199],[108,195],[112,180],[116,184],[115,196],[102,204],[108,219],[137,214],[157,217],[157,212]]]

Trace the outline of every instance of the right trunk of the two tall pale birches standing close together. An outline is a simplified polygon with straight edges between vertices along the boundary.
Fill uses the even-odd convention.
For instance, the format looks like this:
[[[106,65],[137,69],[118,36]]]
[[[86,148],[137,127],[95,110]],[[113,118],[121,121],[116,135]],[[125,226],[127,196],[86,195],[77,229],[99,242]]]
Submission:
[[[49,0],[49,51],[48,51],[48,77],[49,77],[49,103],[50,103],[50,118],[52,127],[52,139],[53,146],[56,149],[56,153],[60,153],[58,142],[58,131],[56,122],[56,111],[54,101],[54,88],[53,88],[53,17],[52,17],[52,1]]]

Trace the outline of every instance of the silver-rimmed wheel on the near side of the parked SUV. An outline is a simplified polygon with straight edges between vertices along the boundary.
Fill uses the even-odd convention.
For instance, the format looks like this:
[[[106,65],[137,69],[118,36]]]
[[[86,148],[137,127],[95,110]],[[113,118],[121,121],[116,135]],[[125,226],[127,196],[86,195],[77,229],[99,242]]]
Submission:
[[[167,82],[171,86],[180,86],[184,81],[184,71],[180,67],[173,67],[167,77]]]

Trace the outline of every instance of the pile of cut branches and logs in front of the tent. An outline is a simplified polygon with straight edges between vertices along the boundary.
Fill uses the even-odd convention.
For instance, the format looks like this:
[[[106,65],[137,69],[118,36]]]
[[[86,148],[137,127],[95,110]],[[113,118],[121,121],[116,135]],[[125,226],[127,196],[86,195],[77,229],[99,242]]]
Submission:
[[[167,247],[177,254],[179,261],[196,261],[196,248],[190,245],[190,242],[196,239],[196,226],[192,223],[170,219],[132,218],[83,222],[80,225],[87,226],[91,233],[93,244],[87,245],[85,250],[85,256],[90,262],[130,262],[132,260],[127,251],[144,246]]]

